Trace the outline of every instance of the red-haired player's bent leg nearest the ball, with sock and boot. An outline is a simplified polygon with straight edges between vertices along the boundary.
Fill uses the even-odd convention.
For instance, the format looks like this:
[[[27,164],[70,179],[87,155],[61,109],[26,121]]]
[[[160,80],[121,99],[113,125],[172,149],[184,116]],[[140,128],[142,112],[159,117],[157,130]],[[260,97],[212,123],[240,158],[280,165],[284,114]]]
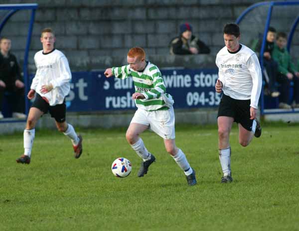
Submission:
[[[140,134],[148,129],[148,125],[140,123],[130,123],[130,126],[126,133],[126,138],[131,147],[136,151],[143,160],[138,172],[138,177],[143,177],[148,173],[149,165],[155,161],[154,155],[152,155],[146,148]]]

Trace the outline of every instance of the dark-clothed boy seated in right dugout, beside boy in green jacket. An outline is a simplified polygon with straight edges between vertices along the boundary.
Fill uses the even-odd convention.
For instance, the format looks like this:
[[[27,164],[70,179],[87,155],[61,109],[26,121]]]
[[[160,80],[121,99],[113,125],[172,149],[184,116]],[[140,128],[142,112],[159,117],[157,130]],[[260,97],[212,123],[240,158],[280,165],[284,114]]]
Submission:
[[[265,50],[263,54],[264,61],[264,78],[266,81],[265,94],[271,97],[278,97],[280,93],[275,87],[275,81],[278,75],[277,63],[272,58],[272,52],[275,45],[276,29],[269,27],[266,37]],[[262,48],[262,39],[259,40],[256,52],[259,54]]]

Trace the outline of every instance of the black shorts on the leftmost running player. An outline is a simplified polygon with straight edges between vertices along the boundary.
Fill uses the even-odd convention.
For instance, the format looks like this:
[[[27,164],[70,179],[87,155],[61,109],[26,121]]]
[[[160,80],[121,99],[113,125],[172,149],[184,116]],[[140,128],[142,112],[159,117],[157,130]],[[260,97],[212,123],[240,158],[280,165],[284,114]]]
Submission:
[[[31,108],[37,108],[44,114],[50,113],[51,117],[55,118],[57,122],[65,121],[66,105],[65,100],[62,104],[57,104],[55,106],[50,106],[39,94],[36,93],[35,100]]]

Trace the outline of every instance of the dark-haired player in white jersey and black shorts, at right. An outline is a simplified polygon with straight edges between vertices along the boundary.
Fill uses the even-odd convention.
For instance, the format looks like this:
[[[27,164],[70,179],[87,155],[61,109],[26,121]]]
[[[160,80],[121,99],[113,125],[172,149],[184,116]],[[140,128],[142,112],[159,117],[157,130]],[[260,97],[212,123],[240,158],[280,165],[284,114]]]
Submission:
[[[216,56],[219,79],[216,92],[223,92],[218,111],[219,159],[223,171],[221,183],[233,181],[229,135],[233,122],[239,124],[239,143],[246,147],[253,136],[260,137],[262,128],[256,119],[262,89],[262,73],[254,51],[239,43],[240,28],[226,24],[225,47]]]

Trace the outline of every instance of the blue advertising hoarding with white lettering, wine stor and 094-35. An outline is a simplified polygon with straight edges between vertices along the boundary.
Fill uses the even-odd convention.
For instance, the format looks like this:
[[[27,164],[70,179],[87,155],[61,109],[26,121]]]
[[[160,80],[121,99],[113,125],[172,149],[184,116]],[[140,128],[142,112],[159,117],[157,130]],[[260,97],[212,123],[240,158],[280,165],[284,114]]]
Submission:
[[[217,69],[161,70],[167,93],[176,109],[217,107]],[[73,72],[71,91],[66,98],[68,112],[119,111],[136,109],[132,78],[106,78],[104,71]]]

